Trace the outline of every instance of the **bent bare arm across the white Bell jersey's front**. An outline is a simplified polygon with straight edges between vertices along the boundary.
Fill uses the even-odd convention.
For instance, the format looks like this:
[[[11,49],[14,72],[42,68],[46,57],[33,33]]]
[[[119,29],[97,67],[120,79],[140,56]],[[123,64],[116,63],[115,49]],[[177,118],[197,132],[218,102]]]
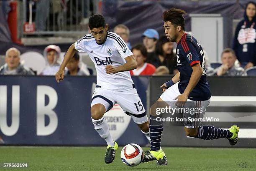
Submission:
[[[137,68],[137,62],[133,55],[126,57],[125,60],[126,60],[126,63],[118,67],[107,65],[106,73],[112,74],[112,73],[118,73],[118,72],[123,72],[128,70],[134,70]]]

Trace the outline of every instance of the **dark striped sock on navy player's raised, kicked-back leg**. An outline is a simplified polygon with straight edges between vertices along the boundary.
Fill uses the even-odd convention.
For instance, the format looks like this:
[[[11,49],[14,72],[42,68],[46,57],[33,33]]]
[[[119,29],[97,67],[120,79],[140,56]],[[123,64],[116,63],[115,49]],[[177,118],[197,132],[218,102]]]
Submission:
[[[198,126],[197,138],[213,140],[219,138],[231,138],[233,133],[229,130],[216,128],[214,126]]]

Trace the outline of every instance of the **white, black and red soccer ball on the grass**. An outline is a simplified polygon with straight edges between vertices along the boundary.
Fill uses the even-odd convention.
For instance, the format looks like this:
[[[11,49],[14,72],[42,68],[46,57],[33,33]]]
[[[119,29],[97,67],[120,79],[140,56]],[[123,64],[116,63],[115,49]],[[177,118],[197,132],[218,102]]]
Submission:
[[[138,166],[143,159],[142,148],[135,143],[127,144],[121,151],[121,160],[127,166]]]

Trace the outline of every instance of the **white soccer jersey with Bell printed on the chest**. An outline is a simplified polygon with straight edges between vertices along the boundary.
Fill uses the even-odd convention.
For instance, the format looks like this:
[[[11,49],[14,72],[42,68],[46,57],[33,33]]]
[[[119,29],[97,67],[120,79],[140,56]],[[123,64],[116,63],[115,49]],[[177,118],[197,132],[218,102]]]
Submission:
[[[87,52],[94,62],[98,86],[115,91],[133,88],[133,80],[129,71],[107,74],[105,70],[107,65],[117,67],[125,64],[124,58],[133,55],[119,35],[108,32],[105,43],[99,45],[93,35],[88,34],[77,40],[74,46],[79,52]]]

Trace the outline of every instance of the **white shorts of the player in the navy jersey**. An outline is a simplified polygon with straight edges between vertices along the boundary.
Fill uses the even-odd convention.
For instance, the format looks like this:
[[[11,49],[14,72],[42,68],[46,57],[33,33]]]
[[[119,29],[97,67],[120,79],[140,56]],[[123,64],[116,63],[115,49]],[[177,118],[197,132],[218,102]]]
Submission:
[[[174,100],[177,96],[180,95],[179,88],[178,88],[179,82],[175,83],[171,87],[169,87],[164,93],[161,94],[160,98],[165,101],[171,108],[176,108],[176,102],[177,100]],[[196,128],[200,124],[200,118],[204,118],[206,108],[210,104],[210,99],[207,101],[192,101],[187,99],[187,102],[184,105],[184,108],[201,108],[202,112],[198,112],[195,114],[191,113],[183,113],[183,118],[186,118],[187,122],[184,122],[184,126],[187,128]],[[189,117],[194,118],[194,122],[189,122]],[[195,119],[196,118],[196,119]]]

